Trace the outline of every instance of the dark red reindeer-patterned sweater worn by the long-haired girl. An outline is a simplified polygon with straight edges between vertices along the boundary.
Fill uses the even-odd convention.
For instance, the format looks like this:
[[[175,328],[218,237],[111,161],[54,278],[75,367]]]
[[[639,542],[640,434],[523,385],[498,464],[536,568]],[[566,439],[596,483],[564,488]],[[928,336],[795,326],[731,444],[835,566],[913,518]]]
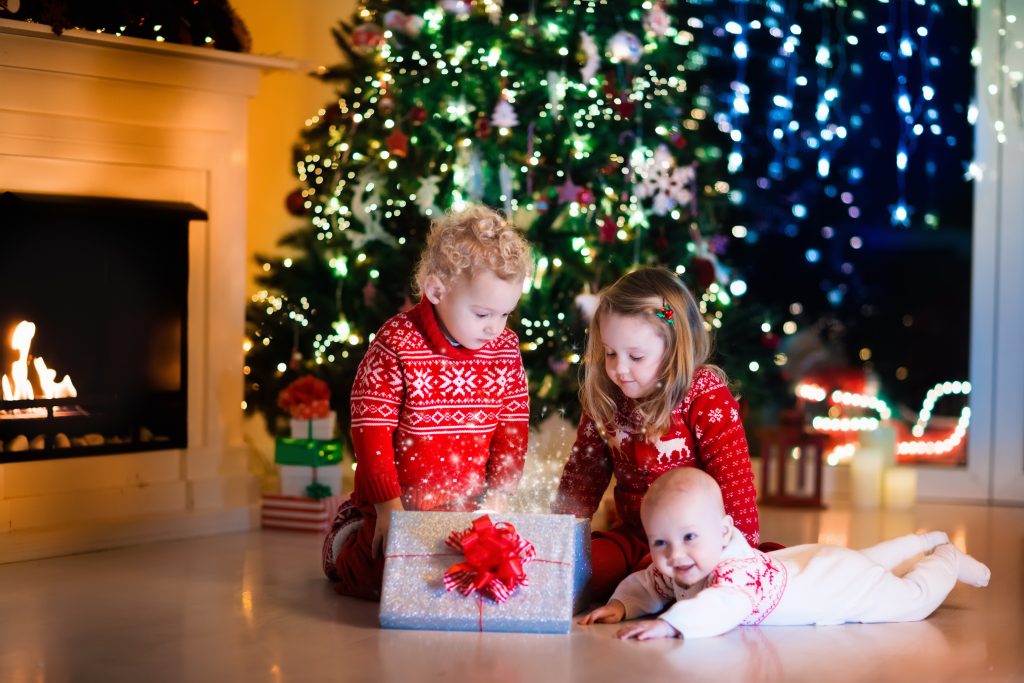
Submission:
[[[718,481],[725,512],[757,546],[760,527],[751,455],[739,408],[722,380],[707,368],[698,369],[683,402],[672,413],[672,427],[656,443],[647,442],[640,427],[641,418],[629,399],[620,404],[616,431],[607,442],[584,414],[553,512],[593,516],[614,474],[618,516],[642,535],[640,501],[647,487],[668,470],[699,467]]]

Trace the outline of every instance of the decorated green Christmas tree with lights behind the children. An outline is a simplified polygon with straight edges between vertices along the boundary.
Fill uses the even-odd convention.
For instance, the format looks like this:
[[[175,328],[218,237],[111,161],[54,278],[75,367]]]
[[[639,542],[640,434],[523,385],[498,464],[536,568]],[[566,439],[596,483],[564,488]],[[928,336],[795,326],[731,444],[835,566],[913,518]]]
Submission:
[[[430,220],[469,203],[508,215],[537,269],[512,323],[531,408],[577,416],[594,294],[637,264],[679,272],[729,355],[739,391],[770,349],[737,314],[719,264],[728,243],[723,144],[695,45],[699,3],[367,2],[335,32],[347,60],[322,77],[339,98],[303,132],[308,220],[262,258],[249,308],[247,403],[276,414],[298,374],[350,385],[380,325],[411,305]],[[741,291],[741,290],[733,290]],[[735,308],[734,308],[735,307]],[[728,343],[725,343],[728,335]],[[739,349],[751,349],[750,353]]]

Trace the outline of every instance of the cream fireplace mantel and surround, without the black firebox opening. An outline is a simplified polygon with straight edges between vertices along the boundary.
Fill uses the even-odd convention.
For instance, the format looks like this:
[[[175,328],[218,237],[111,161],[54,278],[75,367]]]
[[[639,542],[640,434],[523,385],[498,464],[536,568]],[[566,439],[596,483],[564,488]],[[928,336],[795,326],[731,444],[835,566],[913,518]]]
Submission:
[[[0,191],[184,202],[209,216],[189,238],[187,446],[0,464],[0,561],[255,525],[241,410],[248,100],[262,72],[295,69],[0,20]]]

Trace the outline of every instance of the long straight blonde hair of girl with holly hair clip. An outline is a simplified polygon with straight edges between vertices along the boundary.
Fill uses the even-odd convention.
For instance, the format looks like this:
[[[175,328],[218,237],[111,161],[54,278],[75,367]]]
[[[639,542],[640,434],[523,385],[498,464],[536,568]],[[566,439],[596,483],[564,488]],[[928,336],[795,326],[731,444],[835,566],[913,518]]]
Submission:
[[[707,367],[725,380],[719,368],[708,365],[711,335],[686,285],[666,268],[638,268],[600,293],[590,322],[580,400],[602,432],[614,429],[616,403],[622,397],[622,391],[604,370],[601,318],[605,313],[649,321],[665,340],[657,388],[636,401],[648,440],[653,441],[669,431],[672,411],[689,391],[697,368]]]

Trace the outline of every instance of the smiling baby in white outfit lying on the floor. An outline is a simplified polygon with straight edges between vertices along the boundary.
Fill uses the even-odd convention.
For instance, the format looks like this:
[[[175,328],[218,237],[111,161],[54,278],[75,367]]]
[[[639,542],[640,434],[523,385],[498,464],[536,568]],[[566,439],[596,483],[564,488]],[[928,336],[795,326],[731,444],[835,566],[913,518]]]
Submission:
[[[942,531],[861,551],[808,544],[762,553],[733,527],[715,480],[694,467],[658,477],[640,516],[651,565],[630,574],[606,605],[580,620],[615,624],[658,615],[624,627],[617,633],[623,639],[702,638],[757,624],[915,622],[935,611],[957,581],[980,588],[990,577]],[[893,573],[922,554],[905,574]]]

